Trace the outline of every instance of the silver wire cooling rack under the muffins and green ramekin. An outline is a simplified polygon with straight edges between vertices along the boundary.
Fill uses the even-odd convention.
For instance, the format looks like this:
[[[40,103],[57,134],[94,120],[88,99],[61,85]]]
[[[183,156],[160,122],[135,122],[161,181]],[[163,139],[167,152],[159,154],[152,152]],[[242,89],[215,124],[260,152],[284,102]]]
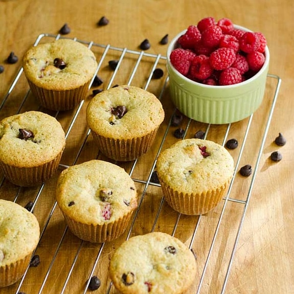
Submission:
[[[41,34],[34,45],[52,41],[60,35]],[[254,189],[257,186],[260,163],[264,161],[264,146],[277,101],[281,79],[272,74],[267,76],[264,100],[254,115],[241,122],[228,125],[203,124],[184,117],[179,126],[184,130],[184,138],[193,138],[198,130],[205,131],[205,138],[224,146],[228,139],[235,138],[239,147],[230,150],[235,160],[235,173],[229,191],[220,205],[207,215],[186,216],[173,211],[165,202],[160,185],[153,179],[156,158],[159,153],[175,143],[171,118],[176,111],[168,93],[166,57],[144,51],[116,48],[93,41],[79,41],[96,55],[98,67],[95,76],[103,82],[95,83],[95,76],[89,87],[88,97],[74,110],[54,112],[42,109],[30,92],[28,83],[18,71],[7,94],[0,104],[0,119],[27,110],[39,110],[54,116],[66,133],[66,148],[55,176],[38,187],[23,188],[9,183],[1,176],[1,198],[15,201],[22,206],[31,206],[41,229],[40,240],[34,255],[40,258],[37,267],[27,268],[25,276],[16,284],[2,288],[1,293],[86,293],[91,277],[101,281],[94,293],[117,293],[112,286],[107,267],[114,249],[126,239],[151,231],[169,233],[185,242],[197,257],[197,278],[189,293],[224,293],[230,285],[234,258],[238,253],[238,243],[245,221],[246,211]],[[115,70],[110,70],[108,61],[117,60]],[[155,69],[164,71],[164,76],[154,79]],[[156,140],[147,154],[128,163],[116,163],[129,173],[134,180],[139,206],[133,214],[126,232],[118,239],[92,244],[75,237],[67,229],[55,201],[55,185],[60,172],[69,166],[92,159],[110,161],[99,153],[91,132],[85,123],[85,108],[93,89],[108,89],[117,84],[132,84],[154,93],[165,109],[165,121],[161,125]],[[49,130],[54,131],[54,130]],[[250,144],[250,136],[259,138],[258,144]],[[251,164],[253,173],[242,177],[238,170]],[[132,258],[132,257],[130,257]]]

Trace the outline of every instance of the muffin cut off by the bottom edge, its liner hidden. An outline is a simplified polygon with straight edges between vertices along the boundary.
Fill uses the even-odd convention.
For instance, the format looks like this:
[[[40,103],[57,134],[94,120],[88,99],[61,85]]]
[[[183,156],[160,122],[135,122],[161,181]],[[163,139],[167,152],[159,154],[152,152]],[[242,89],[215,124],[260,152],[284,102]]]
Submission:
[[[196,260],[179,239],[152,232],[132,237],[117,248],[109,276],[123,294],[179,294],[193,283]]]

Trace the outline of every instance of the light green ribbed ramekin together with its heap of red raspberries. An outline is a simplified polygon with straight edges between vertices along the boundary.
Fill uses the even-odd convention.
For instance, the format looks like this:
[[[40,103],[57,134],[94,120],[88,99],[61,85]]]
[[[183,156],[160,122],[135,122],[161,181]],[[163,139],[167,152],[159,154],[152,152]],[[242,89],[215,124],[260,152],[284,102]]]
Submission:
[[[229,18],[202,18],[167,50],[170,95],[187,117],[204,123],[240,121],[260,106],[266,85],[266,38]]]

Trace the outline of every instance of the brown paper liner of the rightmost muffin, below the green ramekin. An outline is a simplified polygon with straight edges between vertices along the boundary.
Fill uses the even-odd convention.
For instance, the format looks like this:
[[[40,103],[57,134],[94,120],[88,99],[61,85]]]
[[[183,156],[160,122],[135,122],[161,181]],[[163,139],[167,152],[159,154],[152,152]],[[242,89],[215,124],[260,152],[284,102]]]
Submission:
[[[160,178],[159,178],[160,179]],[[213,210],[222,197],[227,193],[230,180],[215,190],[208,190],[206,193],[183,193],[173,190],[160,179],[163,195],[168,205],[177,212],[187,215],[206,214]]]

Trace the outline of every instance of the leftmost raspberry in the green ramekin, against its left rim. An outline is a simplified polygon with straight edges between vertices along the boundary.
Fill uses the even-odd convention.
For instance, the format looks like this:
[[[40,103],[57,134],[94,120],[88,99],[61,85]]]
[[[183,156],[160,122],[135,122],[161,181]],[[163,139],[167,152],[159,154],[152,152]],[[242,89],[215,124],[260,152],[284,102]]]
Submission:
[[[179,73],[186,76],[189,72],[190,64],[194,56],[195,53],[192,51],[177,48],[171,52],[170,62]]]

